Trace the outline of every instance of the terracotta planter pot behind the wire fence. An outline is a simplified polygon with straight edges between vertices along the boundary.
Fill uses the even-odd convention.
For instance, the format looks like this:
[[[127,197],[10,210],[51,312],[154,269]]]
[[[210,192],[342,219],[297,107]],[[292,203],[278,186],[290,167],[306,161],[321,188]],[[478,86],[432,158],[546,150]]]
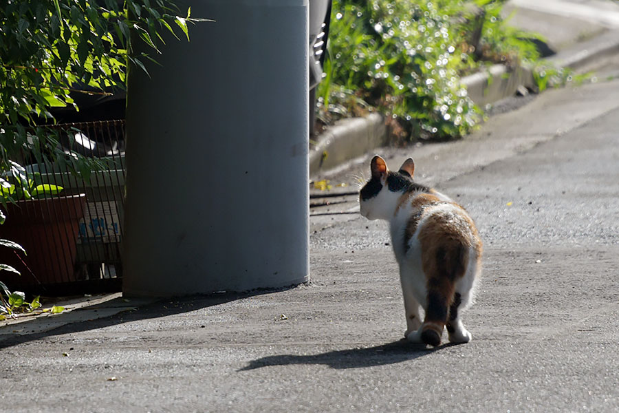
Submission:
[[[0,238],[17,242],[28,254],[0,248],[0,263],[21,272],[21,276],[0,274],[11,290],[75,281],[76,242],[85,204],[86,195],[80,193],[7,205]]]

